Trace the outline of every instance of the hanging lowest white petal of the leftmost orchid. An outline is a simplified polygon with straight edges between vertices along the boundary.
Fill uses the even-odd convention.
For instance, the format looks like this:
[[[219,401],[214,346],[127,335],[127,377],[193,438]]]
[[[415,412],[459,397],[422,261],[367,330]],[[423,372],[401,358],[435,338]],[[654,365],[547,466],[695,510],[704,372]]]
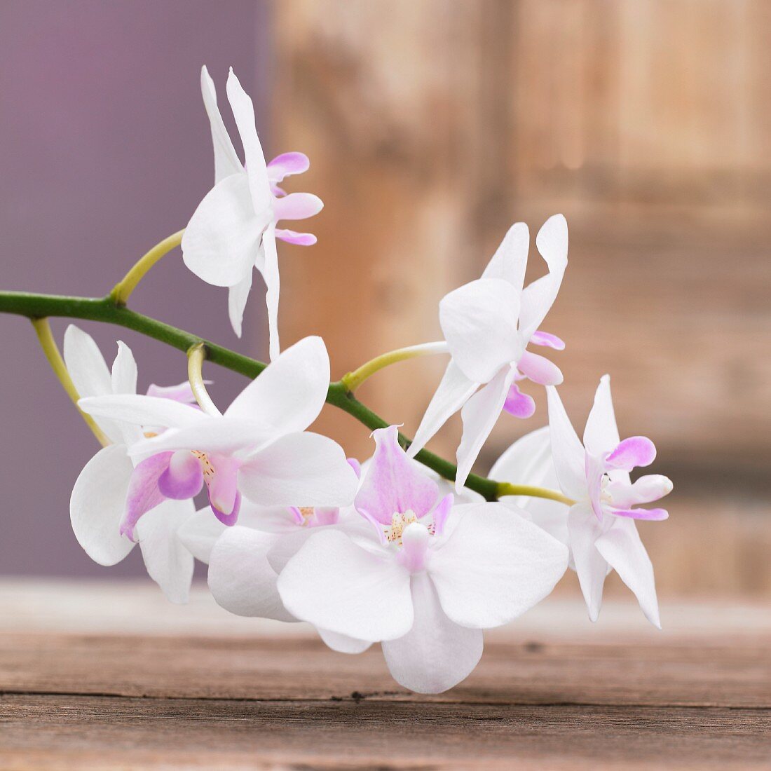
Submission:
[[[177,530],[195,513],[192,500],[164,500],[136,523],[147,573],[163,590],[167,600],[184,604],[193,581],[193,555],[183,545]]]

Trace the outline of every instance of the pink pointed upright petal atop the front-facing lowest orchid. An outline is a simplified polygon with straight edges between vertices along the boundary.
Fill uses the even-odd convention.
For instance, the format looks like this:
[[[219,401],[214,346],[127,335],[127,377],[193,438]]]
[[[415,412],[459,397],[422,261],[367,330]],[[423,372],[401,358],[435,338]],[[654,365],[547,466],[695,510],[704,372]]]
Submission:
[[[389,426],[372,432],[375,453],[356,493],[355,507],[384,525],[392,515],[412,511],[418,519],[432,509],[439,486],[426,476],[399,445],[399,429]]]

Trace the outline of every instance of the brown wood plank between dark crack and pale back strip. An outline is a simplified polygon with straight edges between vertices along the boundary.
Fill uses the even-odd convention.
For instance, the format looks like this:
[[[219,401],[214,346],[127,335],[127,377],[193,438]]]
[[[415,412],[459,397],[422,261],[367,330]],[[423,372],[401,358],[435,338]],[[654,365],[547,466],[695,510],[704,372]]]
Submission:
[[[379,646],[316,638],[2,635],[0,692],[189,699],[342,699],[771,709],[768,645],[492,642],[465,682],[436,696],[396,685]]]

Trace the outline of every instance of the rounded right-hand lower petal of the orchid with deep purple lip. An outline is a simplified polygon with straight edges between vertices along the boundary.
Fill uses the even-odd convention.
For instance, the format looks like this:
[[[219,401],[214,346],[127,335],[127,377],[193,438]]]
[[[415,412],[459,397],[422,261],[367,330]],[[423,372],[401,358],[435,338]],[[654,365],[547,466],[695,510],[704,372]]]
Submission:
[[[347,506],[359,478],[342,447],[327,436],[281,436],[241,466],[238,487],[263,506]]]

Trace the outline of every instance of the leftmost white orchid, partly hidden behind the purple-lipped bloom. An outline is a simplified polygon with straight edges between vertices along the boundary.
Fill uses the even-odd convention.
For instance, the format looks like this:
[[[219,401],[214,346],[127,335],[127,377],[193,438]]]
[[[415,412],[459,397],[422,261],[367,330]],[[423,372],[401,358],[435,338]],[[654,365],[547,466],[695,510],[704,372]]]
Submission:
[[[81,396],[136,393],[136,362],[123,342],[118,342],[110,372],[93,338],[69,325],[64,335],[64,360]],[[193,400],[187,383],[167,388],[151,385],[149,392],[175,402]],[[103,417],[96,422],[112,444],[100,449],[78,476],[69,504],[70,520],[86,554],[100,565],[114,565],[136,546],[120,534],[120,523],[134,473],[127,446],[140,439],[141,430]],[[190,500],[170,500],[153,510],[136,529],[147,573],[172,602],[187,602],[190,592],[194,560],[179,531],[194,512]]]

